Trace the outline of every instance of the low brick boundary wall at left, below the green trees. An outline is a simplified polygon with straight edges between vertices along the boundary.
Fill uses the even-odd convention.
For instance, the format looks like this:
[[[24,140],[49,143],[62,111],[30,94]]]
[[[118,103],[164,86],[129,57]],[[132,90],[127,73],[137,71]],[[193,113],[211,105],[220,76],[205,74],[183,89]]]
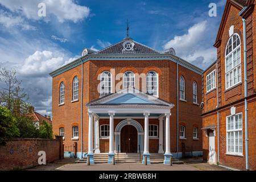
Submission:
[[[46,163],[63,158],[62,140],[15,138],[0,146],[0,170],[24,169],[38,166],[39,151],[46,152]]]

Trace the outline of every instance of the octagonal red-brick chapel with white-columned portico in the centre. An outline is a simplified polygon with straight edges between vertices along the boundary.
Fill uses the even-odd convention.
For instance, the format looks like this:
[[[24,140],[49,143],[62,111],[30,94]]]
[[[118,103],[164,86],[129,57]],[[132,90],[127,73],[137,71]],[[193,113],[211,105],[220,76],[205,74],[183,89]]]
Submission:
[[[108,152],[111,160],[118,150],[165,151],[166,163],[170,154],[202,155],[202,72],[172,48],[160,53],[131,38],[84,49],[50,73],[53,133],[65,146],[76,142],[77,156],[88,152],[91,162],[94,153]]]

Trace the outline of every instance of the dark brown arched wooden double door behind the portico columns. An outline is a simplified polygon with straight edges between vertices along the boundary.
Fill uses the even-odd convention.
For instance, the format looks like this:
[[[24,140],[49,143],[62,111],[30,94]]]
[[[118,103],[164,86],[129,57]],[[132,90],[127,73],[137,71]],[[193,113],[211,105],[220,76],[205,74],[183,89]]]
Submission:
[[[136,152],[138,148],[138,131],[133,125],[123,126],[121,130],[121,152]]]

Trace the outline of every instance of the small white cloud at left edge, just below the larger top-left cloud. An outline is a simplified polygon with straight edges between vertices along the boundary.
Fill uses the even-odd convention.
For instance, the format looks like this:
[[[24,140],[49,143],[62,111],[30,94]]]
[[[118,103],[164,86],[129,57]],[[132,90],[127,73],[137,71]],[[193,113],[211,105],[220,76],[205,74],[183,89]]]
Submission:
[[[36,27],[30,26],[22,17],[14,16],[3,10],[0,10],[0,24],[6,28],[20,27],[22,30],[36,30]]]

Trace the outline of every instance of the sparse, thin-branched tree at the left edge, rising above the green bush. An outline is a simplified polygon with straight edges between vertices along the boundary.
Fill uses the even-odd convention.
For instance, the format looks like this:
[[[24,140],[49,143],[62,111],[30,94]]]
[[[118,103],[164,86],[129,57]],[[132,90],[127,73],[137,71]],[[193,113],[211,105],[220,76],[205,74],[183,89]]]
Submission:
[[[26,115],[31,104],[28,103],[27,93],[21,87],[22,81],[16,78],[15,69],[10,71],[2,68],[0,81],[5,85],[0,89],[0,105],[6,106],[15,116]]]

